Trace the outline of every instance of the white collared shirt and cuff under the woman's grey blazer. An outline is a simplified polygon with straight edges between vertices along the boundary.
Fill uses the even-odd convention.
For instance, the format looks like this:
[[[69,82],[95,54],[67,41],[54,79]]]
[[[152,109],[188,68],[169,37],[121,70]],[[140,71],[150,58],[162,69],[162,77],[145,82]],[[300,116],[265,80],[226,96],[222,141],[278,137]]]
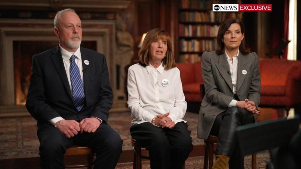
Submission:
[[[229,57],[229,55],[227,54],[226,51],[225,51],[225,54],[226,54],[226,59],[228,61],[229,68],[230,68],[233,94],[236,95],[237,94],[237,69],[238,69],[237,64],[238,64],[239,50],[238,50],[237,54],[232,57],[232,59]],[[236,103],[237,103],[237,100],[234,100],[234,99],[231,100],[229,107],[235,106]]]

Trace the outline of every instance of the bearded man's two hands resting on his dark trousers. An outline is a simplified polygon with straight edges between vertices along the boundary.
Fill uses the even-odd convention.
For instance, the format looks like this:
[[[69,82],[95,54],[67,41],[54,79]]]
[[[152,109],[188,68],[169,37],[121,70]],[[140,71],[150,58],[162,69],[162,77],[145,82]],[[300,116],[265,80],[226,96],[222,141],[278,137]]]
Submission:
[[[60,120],[55,126],[68,138],[74,137],[80,132],[94,133],[100,125],[100,120],[95,117],[83,119],[81,122],[75,120]]]

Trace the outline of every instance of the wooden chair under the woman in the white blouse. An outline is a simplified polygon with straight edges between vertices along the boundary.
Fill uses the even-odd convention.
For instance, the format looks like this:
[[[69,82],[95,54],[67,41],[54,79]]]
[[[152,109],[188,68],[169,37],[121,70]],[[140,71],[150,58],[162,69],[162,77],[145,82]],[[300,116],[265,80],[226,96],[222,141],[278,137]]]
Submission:
[[[149,160],[149,156],[142,156],[141,155],[141,148],[145,148],[139,144],[139,142],[132,138],[132,147],[134,150],[134,162],[133,162],[133,169],[141,169],[141,158]],[[185,169],[185,163],[183,165],[183,169]]]

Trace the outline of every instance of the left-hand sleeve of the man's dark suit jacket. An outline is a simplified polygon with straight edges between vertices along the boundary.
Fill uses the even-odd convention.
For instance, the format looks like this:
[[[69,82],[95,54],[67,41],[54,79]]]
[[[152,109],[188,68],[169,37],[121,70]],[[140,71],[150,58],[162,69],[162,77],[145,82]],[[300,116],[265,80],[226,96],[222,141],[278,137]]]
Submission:
[[[26,108],[38,121],[49,121],[60,115],[46,102],[44,77],[36,56],[32,57],[32,74],[30,76],[29,92],[26,98]]]

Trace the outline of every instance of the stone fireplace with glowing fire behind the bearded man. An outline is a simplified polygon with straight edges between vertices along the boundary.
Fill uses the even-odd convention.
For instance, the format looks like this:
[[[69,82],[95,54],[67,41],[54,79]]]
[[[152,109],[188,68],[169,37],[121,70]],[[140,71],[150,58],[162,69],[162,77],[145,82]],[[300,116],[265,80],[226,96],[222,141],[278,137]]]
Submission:
[[[116,83],[115,21],[82,20],[82,47],[104,54],[114,96]],[[58,45],[52,20],[0,21],[0,106],[24,105],[31,74],[31,57]],[[126,110],[126,100],[114,97],[114,108]]]

